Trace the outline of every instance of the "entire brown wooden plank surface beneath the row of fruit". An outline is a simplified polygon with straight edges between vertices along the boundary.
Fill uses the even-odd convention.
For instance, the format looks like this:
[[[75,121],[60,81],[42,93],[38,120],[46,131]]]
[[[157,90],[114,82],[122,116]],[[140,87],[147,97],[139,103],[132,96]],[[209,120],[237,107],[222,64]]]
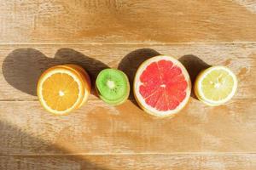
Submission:
[[[191,96],[156,119],[132,97],[117,107],[95,94],[52,116],[36,83],[51,65],[77,63],[95,79],[170,54],[192,80],[226,65],[239,87],[227,105]],[[255,0],[0,0],[0,169],[256,169]]]

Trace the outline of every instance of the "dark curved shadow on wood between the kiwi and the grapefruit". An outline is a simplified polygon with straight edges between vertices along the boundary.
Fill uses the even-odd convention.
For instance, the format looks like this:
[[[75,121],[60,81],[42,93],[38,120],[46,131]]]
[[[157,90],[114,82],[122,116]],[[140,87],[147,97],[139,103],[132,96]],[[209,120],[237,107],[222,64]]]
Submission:
[[[133,80],[137,72],[137,69],[143,63],[143,61],[151,57],[154,57],[156,55],[160,55],[160,53],[158,53],[154,49],[141,48],[141,49],[134,50],[131,53],[125,55],[125,57],[119,63],[118,69],[121,71],[124,71],[127,77],[129,78],[129,82],[131,85],[131,92],[130,92],[129,99],[131,99],[131,101],[135,105],[137,105],[137,102],[135,101],[132,89],[133,89]]]

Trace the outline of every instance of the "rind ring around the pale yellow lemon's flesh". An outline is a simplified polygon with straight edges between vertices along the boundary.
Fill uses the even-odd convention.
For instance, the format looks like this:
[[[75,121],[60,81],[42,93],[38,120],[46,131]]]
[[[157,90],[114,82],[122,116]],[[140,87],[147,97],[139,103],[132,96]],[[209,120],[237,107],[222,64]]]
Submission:
[[[231,93],[222,100],[211,100],[211,99],[207,99],[205,97],[205,95],[202,93],[201,90],[201,82],[204,80],[205,77],[207,77],[207,75],[211,72],[211,71],[215,71],[215,70],[224,70],[227,71],[229,73],[229,75],[233,78],[234,81],[234,86],[231,90]],[[210,106],[218,106],[218,105],[223,105],[224,103],[228,102],[235,94],[236,94],[236,89],[237,89],[237,78],[236,75],[230,71],[229,68],[222,66],[222,65],[218,65],[218,66],[212,66],[210,68],[207,68],[204,71],[201,71],[201,73],[196,77],[195,79],[195,86],[194,86],[194,92],[195,92],[195,96],[201,100],[201,102],[203,102],[206,105],[210,105]]]

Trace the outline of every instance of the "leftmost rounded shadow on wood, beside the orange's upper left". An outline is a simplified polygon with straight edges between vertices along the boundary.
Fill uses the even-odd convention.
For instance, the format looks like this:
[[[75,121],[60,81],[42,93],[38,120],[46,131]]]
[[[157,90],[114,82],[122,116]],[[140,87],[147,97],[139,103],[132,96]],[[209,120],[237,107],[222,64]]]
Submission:
[[[15,49],[3,60],[3,77],[14,88],[35,96],[38,78],[49,64],[49,58],[37,49]]]

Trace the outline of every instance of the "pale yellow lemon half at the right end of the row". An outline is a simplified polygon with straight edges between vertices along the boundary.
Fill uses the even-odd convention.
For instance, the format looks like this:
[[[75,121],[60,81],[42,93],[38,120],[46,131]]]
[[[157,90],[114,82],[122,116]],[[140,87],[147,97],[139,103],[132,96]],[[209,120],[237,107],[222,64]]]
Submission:
[[[195,95],[207,105],[222,105],[236,93],[236,75],[224,66],[212,66],[195,79]]]

